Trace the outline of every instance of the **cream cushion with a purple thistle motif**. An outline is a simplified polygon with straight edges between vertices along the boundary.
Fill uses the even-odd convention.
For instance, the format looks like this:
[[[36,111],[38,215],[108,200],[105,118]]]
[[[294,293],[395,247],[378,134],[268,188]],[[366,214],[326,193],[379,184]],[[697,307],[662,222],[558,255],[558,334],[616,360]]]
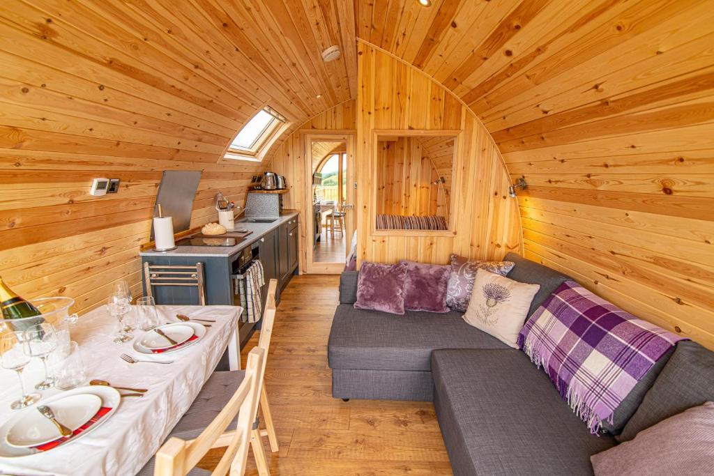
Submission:
[[[518,333],[539,289],[538,284],[518,283],[496,273],[476,270],[471,301],[463,319],[517,349]]]

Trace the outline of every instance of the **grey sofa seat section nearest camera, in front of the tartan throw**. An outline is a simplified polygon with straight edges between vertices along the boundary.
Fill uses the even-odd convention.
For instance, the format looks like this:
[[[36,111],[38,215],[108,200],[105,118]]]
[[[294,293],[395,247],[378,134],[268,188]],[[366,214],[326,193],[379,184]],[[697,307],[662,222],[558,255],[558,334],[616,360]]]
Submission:
[[[520,350],[435,350],[434,406],[453,474],[589,475],[591,435]]]

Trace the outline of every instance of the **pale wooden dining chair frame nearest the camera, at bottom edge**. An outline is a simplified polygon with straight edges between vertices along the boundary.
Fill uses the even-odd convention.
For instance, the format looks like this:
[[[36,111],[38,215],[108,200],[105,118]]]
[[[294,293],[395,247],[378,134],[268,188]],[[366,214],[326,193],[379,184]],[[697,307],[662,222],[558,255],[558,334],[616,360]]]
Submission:
[[[185,476],[198,472],[206,474],[204,470],[195,470],[195,466],[208,450],[215,447],[216,441],[223,438],[226,427],[236,418],[236,428],[231,430],[232,436],[227,445],[228,449],[211,474],[223,476],[230,470],[231,476],[242,476],[246,472],[248,442],[252,438],[253,421],[261,396],[260,388],[266,356],[266,350],[262,348],[251,349],[248,353],[245,375],[231,400],[228,400],[223,410],[195,440],[185,441],[172,437],[164,443],[156,452],[154,476]]]

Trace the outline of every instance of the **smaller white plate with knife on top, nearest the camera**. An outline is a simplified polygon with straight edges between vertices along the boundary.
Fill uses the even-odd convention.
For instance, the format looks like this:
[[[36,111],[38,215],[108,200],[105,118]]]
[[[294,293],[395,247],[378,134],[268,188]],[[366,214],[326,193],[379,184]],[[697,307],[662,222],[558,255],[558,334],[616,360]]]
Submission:
[[[5,440],[9,445],[25,448],[39,446],[62,436],[57,426],[39,412],[39,405],[49,407],[58,422],[74,431],[96,415],[101,408],[101,398],[92,393],[82,393],[49,404],[39,402],[32,407],[34,412],[24,412],[23,417],[8,430]]]

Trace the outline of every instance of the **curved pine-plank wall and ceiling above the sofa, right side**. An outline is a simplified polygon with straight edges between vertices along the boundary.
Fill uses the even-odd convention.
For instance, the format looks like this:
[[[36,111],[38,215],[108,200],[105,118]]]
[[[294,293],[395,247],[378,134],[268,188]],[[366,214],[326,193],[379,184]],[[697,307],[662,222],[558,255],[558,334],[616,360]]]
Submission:
[[[714,348],[710,1],[356,3],[361,40],[453,91],[526,178],[527,258]]]

